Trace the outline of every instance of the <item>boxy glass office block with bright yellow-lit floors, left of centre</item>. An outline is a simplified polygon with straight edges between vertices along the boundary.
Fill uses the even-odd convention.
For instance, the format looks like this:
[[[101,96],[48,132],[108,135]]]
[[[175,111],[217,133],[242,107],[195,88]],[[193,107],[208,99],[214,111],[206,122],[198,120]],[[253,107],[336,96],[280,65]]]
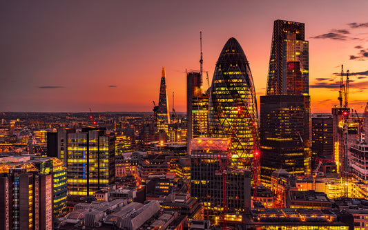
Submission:
[[[115,136],[98,128],[68,133],[68,193],[93,195],[115,182]]]

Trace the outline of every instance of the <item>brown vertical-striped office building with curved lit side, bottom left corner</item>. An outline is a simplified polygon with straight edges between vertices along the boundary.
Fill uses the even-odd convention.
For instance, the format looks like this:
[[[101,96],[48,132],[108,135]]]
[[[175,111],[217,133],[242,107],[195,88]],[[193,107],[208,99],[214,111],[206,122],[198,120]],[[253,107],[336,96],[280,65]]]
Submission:
[[[52,217],[66,209],[66,186],[56,158],[0,158],[0,229],[52,229]]]

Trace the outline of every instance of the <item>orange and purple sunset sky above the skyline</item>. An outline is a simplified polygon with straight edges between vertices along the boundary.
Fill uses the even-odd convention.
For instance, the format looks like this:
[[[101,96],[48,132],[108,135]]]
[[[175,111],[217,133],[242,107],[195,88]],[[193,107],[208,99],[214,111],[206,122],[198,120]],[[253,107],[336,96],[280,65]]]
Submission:
[[[273,21],[284,19],[305,23],[311,112],[338,104],[343,64],[349,105],[360,113],[368,101],[367,9],[367,0],[2,1],[0,111],[152,111],[162,66],[170,110],[174,91],[175,111],[185,111],[185,71],[200,69],[200,30],[210,82],[235,37],[259,102]]]

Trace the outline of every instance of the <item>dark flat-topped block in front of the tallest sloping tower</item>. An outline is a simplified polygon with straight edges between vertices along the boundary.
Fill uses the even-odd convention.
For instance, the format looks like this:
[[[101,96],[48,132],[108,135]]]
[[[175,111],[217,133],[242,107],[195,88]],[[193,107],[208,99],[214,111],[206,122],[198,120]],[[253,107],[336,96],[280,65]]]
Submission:
[[[309,167],[309,97],[270,95],[260,97],[261,180],[271,182],[271,174],[284,169],[304,175]],[[305,137],[305,138],[304,138]]]

